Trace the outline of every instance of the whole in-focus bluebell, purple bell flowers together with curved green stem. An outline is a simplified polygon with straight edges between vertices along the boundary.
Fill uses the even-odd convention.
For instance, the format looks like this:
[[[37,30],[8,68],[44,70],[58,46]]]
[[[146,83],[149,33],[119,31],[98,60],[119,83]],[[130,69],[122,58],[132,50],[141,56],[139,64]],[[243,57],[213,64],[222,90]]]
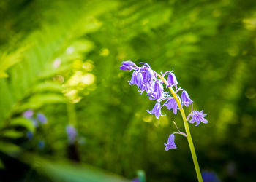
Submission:
[[[175,74],[173,74],[173,71],[166,71],[164,74],[162,74],[161,72],[162,75],[160,75],[156,71],[152,70],[148,63],[143,63],[143,66],[139,67],[130,60],[123,61],[122,66],[120,68],[124,71],[133,71],[132,79],[128,81],[129,84],[137,85],[138,89],[140,89],[138,90],[140,94],[146,92],[146,95],[149,96],[148,98],[150,100],[156,101],[154,108],[151,111],[147,110],[149,114],[154,114],[157,119],[159,119],[159,116],[165,116],[161,113],[161,109],[164,106],[168,110],[172,109],[173,114],[177,114],[177,110],[181,112],[186,133],[178,130],[176,123],[173,122],[178,132],[173,132],[169,135],[167,143],[164,143],[165,151],[168,151],[170,149],[177,149],[176,143],[174,142],[175,134],[183,135],[184,137],[186,137],[189,143],[190,152],[192,154],[197,179],[198,181],[203,182],[200,173],[200,167],[197,162],[197,155],[195,153],[195,147],[192,141],[192,136],[189,131],[188,123],[196,122],[195,126],[197,126],[201,122],[206,124],[208,123],[208,121],[204,118],[206,114],[203,114],[203,110],[200,112],[192,110],[188,117],[186,117],[183,107],[189,107],[190,104],[192,105],[193,101],[191,100],[191,98],[189,98],[189,94],[187,93],[186,90],[182,89],[181,87],[177,87],[178,81],[176,79]],[[165,79],[165,75],[167,75],[167,80]],[[165,87],[170,90],[170,94],[169,92],[165,92],[163,84],[165,84]],[[175,87],[176,90],[173,90],[173,87]],[[182,92],[180,98],[178,95],[178,91],[181,90]],[[165,102],[162,104],[163,101]]]

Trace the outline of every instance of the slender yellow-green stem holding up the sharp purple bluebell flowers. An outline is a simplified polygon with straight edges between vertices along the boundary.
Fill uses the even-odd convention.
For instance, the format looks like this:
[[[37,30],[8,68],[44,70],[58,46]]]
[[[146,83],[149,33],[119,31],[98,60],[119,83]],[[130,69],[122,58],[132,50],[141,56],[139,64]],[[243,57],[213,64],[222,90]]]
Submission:
[[[159,74],[157,74],[157,76],[160,79],[162,79],[162,81],[165,84],[167,84],[167,81],[165,80],[165,78],[163,76],[161,76]],[[201,175],[201,172],[200,172],[200,167],[199,167],[199,164],[198,164],[198,161],[197,161],[197,154],[195,153],[195,147],[194,147],[194,144],[193,144],[193,141],[192,141],[192,136],[191,136],[190,131],[189,131],[189,124],[187,122],[186,114],[185,114],[185,112],[184,112],[184,110],[181,106],[181,102],[178,99],[178,97],[176,95],[176,92],[174,92],[172,87],[168,87],[168,88],[169,88],[170,92],[172,93],[173,98],[176,100],[176,103],[178,103],[179,111],[181,111],[181,116],[182,116],[182,119],[183,119],[183,122],[184,122],[184,127],[185,127],[185,130],[186,130],[186,133],[187,133],[187,141],[189,143],[189,149],[190,149],[192,159],[193,159],[193,162],[194,162],[195,172],[197,173],[197,179],[198,179],[198,181],[203,182],[202,175]]]

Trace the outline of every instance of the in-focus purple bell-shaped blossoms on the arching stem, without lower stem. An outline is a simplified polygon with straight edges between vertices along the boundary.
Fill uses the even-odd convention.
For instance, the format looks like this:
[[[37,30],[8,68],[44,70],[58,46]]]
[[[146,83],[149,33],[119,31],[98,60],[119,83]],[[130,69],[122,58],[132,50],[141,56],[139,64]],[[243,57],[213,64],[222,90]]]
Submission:
[[[149,114],[154,114],[157,119],[162,115],[162,108],[165,106],[168,110],[173,110],[173,114],[177,114],[178,105],[183,108],[183,106],[189,107],[190,104],[193,103],[191,98],[189,98],[189,94],[186,90],[181,87],[178,88],[178,81],[176,79],[173,71],[166,71],[164,74],[158,74],[156,71],[152,70],[148,63],[141,63],[143,66],[137,66],[131,60],[123,61],[121,63],[121,70],[124,71],[133,71],[132,79],[129,84],[134,84],[138,87],[138,92],[142,94],[144,91],[150,100],[156,100],[155,106],[151,111],[147,112]],[[167,80],[165,79],[167,76]],[[169,92],[165,92],[163,83],[165,82],[166,88],[170,88],[175,92],[179,103],[176,102],[176,99],[173,98]],[[181,92],[181,98],[178,95],[178,92]],[[161,105],[162,104],[162,105]],[[200,124],[200,122],[207,123],[208,121],[204,119],[206,114],[203,114],[203,111],[192,111],[188,116],[188,120],[190,123],[196,122],[196,126]],[[176,145],[174,143],[174,135],[171,134],[168,138],[167,144],[165,144],[165,150],[176,149]]]

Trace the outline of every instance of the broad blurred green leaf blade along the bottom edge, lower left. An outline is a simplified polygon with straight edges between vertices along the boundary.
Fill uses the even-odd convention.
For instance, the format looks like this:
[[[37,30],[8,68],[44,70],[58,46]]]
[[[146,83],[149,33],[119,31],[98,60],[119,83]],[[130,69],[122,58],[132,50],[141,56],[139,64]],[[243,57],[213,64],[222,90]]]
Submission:
[[[39,173],[48,175],[53,181],[67,181],[67,182],[83,182],[83,181],[128,181],[127,179],[100,170],[89,165],[78,165],[67,160],[48,160],[42,157],[34,156],[33,154],[25,154],[21,157],[24,162],[29,162],[31,165],[36,165],[35,168]]]

